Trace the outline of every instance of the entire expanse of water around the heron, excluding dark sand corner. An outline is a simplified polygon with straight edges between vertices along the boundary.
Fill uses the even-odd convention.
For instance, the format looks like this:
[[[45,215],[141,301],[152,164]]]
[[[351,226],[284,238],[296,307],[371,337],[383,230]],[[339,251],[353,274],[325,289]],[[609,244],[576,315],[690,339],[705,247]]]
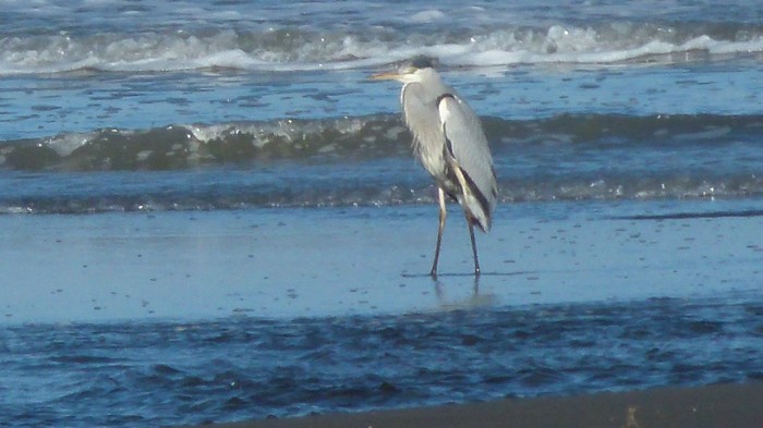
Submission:
[[[3,2],[0,425],[761,379],[763,7],[562,3]],[[483,257],[521,274],[476,294],[405,277],[435,193],[367,76],[415,53],[495,156]]]

